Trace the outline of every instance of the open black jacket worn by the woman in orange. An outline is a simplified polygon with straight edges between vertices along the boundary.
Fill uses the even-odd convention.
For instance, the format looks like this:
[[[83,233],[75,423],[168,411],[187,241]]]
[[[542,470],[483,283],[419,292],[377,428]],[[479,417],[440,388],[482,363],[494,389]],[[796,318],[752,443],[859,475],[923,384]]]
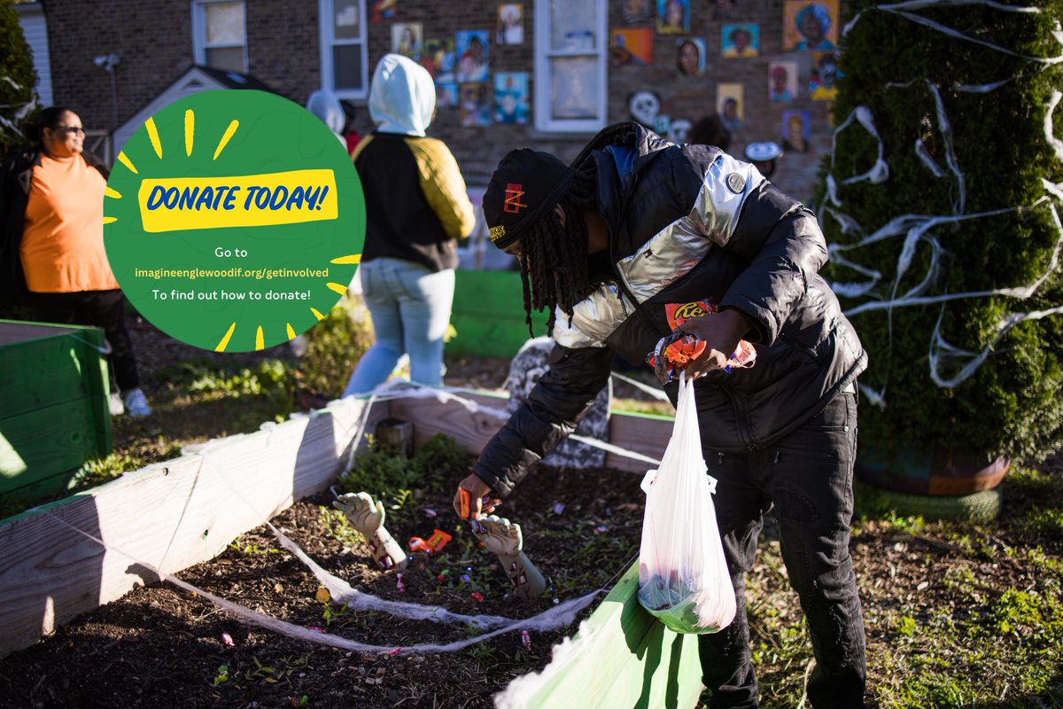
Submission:
[[[85,162],[107,180],[107,169],[91,153],[82,153]],[[30,202],[33,186],[33,168],[40,165],[40,150],[15,153],[0,167],[0,305],[22,305],[28,289],[22,273],[22,230],[26,224],[26,205]]]

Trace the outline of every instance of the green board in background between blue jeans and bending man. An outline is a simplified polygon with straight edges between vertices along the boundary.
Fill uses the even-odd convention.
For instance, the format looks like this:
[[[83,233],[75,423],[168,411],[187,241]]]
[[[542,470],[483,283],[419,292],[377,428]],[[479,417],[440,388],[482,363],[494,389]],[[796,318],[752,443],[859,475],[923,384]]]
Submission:
[[[545,314],[533,314],[533,320],[538,323],[539,334],[545,335]],[[457,336],[446,343],[448,354],[516,355],[528,339],[521,274],[459,269],[455,276],[451,324]]]

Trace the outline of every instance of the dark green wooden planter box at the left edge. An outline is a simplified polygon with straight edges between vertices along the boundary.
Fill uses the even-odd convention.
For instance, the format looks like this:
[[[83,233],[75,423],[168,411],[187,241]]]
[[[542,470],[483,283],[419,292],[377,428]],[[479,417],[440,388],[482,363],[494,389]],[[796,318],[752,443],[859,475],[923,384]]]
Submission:
[[[111,453],[103,331],[0,320],[0,495],[66,488]]]

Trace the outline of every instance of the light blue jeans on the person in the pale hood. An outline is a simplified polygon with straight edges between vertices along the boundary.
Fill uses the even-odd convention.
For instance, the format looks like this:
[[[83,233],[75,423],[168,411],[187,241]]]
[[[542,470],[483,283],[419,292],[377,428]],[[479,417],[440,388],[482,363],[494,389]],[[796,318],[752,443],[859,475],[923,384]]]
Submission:
[[[401,258],[374,258],[358,267],[376,342],[358,361],[343,395],[372,391],[388,378],[403,354],[409,378],[443,381],[443,336],[454,303],[454,269],[434,272]]]

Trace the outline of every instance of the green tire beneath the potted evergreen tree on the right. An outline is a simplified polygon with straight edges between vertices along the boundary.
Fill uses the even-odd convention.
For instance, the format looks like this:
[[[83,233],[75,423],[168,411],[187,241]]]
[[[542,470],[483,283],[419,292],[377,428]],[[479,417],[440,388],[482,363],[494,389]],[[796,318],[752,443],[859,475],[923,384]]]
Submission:
[[[1003,495],[999,488],[965,495],[924,495],[885,490],[859,479],[853,486],[858,514],[881,517],[921,516],[924,520],[952,520],[975,523],[992,522],[1000,514]]]

